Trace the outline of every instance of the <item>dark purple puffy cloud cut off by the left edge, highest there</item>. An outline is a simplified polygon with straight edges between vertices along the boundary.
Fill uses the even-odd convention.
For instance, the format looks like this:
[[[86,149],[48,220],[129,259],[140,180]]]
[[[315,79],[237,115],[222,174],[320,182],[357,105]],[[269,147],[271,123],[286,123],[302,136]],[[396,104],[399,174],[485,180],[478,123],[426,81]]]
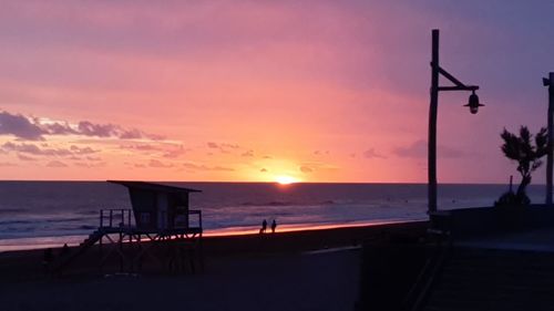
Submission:
[[[21,139],[42,141],[44,132],[21,114],[0,112],[0,135],[13,135]]]

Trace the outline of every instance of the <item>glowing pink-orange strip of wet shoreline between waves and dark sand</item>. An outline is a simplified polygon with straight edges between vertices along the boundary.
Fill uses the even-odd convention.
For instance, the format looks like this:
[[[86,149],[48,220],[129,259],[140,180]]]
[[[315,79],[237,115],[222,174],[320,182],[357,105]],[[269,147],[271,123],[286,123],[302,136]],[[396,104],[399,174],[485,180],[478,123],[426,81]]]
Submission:
[[[310,230],[371,227],[371,226],[384,226],[393,224],[420,222],[424,220],[425,219],[409,219],[409,220],[386,219],[386,220],[361,220],[361,221],[351,221],[342,224],[286,224],[286,225],[279,225],[277,227],[277,232],[286,234],[286,232],[301,232]],[[204,231],[203,237],[213,238],[213,237],[236,237],[236,236],[250,236],[250,235],[258,236],[258,230],[259,227],[256,226],[209,229]],[[11,252],[11,251],[24,251],[24,250],[42,250],[47,248],[60,248],[64,243],[68,243],[68,246],[70,247],[75,247],[80,242],[82,242],[86,237],[88,234],[72,235],[72,236],[21,237],[21,238],[0,239],[0,253]]]

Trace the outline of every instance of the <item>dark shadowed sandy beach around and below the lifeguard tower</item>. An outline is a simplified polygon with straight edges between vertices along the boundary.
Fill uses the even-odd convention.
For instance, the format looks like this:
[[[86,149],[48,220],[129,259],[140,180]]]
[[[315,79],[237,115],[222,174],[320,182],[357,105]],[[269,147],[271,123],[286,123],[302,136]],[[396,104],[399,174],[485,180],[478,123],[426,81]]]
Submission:
[[[360,245],[420,235],[425,222],[204,238],[205,270],[100,272],[94,251],[63,276],[42,272],[41,250],[0,253],[2,310],[352,310]]]

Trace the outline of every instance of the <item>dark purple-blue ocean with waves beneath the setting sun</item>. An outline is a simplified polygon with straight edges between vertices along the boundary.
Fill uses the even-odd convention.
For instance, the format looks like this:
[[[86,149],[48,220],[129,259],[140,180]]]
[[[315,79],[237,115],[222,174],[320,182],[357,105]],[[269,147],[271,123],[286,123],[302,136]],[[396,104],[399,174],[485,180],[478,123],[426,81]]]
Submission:
[[[199,189],[206,235],[256,232],[427,218],[425,184],[164,183]],[[439,208],[492,206],[506,185],[440,185]],[[533,203],[544,186],[532,185]],[[99,226],[99,210],[131,208],[125,187],[105,182],[0,182],[0,251],[78,243]]]

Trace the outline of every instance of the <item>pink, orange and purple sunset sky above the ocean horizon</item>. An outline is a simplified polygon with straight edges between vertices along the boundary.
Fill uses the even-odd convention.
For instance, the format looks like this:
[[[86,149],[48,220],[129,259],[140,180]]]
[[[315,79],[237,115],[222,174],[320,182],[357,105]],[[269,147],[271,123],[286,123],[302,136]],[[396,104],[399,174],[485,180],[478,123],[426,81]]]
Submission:
[[[440,29],[441,66],[485,106],[440,94],[439,183],[519,180],[500,133],[546,124],[553,12],[548,0],[0,0],[0,179],[425,183]]]

